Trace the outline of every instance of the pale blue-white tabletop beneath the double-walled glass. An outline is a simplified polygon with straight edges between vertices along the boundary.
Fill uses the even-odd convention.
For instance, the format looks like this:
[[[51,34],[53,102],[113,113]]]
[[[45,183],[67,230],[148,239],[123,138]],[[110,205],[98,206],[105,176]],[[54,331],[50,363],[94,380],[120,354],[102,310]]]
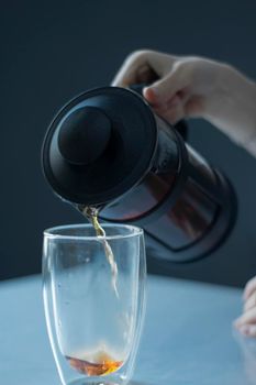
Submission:
[[[240,289],[149,276],[147,292],[133,384],[256,384],[256,340],[232,328]],[[0,384],[60,384],[38,276],[0,283]]]

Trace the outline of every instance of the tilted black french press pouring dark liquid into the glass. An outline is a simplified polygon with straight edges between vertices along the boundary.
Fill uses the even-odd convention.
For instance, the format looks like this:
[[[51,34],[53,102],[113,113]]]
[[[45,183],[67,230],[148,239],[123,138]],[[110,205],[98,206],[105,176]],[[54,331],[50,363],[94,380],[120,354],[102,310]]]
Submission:
[[[230,233],[236,213],[227,178],[131,89],[104,87],[68,102],[42,152],[53,190],[103,221],[142,227],[147,253],[172,262],[202,257]]]

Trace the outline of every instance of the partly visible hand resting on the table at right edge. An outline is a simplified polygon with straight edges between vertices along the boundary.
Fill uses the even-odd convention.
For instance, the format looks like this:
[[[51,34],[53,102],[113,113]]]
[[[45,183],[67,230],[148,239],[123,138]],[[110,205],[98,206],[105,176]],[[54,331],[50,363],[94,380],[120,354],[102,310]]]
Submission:
[[[256,276],[249,279],[244,289],[243,315],[234,322],[243,334],[256,337]]]

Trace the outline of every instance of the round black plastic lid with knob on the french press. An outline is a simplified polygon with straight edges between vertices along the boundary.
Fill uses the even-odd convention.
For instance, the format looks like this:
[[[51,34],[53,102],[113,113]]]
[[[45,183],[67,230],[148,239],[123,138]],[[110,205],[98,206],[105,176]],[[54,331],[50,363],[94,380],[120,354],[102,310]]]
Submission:
[[[151,169],[157,127],[134,91],[105,87],[67,103],[48,128],[43,169],[52,188],[75,204],[104,205]]]

